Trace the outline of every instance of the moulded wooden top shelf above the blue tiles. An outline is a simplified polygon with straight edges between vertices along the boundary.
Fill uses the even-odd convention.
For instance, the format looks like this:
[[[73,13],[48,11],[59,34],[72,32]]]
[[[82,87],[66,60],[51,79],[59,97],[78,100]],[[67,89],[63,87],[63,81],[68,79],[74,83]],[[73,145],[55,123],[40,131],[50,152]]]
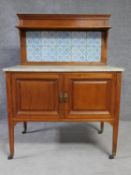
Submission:
[[[108,30],[109,14],[78,15],[78,14],[17,14],[21,30]]]

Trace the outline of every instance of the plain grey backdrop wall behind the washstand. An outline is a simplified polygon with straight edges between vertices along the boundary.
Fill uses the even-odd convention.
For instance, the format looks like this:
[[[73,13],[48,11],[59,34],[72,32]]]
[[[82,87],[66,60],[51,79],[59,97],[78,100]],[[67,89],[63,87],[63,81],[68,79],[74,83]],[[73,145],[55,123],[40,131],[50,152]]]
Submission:
[[[16,13],[111,13],[108,64],[125,68],[121,119],[131,119],[131,0],[0,0],[0,119],[7,116],[2,68],[20,63]]]

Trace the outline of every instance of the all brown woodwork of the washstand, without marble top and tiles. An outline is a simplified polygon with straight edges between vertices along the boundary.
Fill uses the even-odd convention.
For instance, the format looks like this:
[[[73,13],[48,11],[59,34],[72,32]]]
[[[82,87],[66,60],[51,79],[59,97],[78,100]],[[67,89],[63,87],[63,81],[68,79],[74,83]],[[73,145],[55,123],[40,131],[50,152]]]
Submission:
[[[110,15],[18,14],[18,17],[22,64],[106,65]],[[101,31],[101,61],[28,62],[26,31],[32,30]],[[99,133],[107,122],[113,128],[112,154],[109,156],[113,159],[118,140],[121,75],[120,70],[34,72],[32,69],[28,72],[23,71],[23,66],[14,72],[7,70],[8,158],[14,156],[14,127],[19,122],[24,123],[23,133],[26,133],[27,122],[100,122]]]

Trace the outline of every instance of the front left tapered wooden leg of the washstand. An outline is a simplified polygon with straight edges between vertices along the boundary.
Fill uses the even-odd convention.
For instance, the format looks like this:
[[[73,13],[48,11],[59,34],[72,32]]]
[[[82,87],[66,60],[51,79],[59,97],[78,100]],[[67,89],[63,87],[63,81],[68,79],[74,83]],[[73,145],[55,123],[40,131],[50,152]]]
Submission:
[[[9,149],[10,154],[8,156],[8,159],[13,159],[14,157],[14,123],[9,122]]]

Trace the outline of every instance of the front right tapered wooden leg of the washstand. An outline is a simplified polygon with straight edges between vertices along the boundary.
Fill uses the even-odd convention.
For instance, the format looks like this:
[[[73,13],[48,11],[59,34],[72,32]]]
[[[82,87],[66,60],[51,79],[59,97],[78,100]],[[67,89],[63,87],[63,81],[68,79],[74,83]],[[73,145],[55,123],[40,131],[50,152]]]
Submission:
[[[113,136],[112,136],[112,154],[109,159],[114,159],[117,151],[117,140],[118,140],[118,121],[114,123],[113,126]]]

